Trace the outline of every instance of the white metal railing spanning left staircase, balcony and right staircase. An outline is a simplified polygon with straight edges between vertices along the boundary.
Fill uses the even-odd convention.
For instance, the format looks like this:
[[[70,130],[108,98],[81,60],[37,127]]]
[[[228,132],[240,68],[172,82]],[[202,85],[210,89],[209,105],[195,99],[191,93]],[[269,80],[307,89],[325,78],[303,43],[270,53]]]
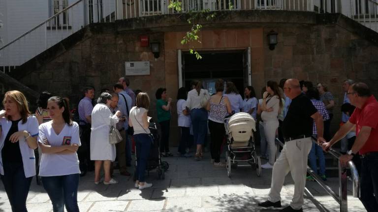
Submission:
[[[0,46],[0,70],[10,71],[91,23],[177,13],[172,0],[78,0],[53,5],[56,13],[23,35]],[[290,10],[343,13],[378,31],[377,0],[179,0],[182,13],[221,10]],[[59,11],[59,12],[57,12]],[[1,44],[0,44],[1,45]]]

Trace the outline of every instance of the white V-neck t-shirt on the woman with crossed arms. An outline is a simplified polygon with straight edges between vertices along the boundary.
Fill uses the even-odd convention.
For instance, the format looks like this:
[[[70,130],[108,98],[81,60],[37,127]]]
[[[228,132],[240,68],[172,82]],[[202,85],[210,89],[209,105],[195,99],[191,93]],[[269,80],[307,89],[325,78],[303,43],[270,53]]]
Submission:
[[[79,125],[73,122],[72,126],[65,124],[62,132],[58,135],[52,127],[52,121],[39,126],[38,142],[42,143],[43,138],[47,138],[50,146],[61,146],[80,143]],[[70,174],[80,174],[79,159],[77,153],[72,154],[46,154],[42,153],[39,164],[39,176],[63,176]]]

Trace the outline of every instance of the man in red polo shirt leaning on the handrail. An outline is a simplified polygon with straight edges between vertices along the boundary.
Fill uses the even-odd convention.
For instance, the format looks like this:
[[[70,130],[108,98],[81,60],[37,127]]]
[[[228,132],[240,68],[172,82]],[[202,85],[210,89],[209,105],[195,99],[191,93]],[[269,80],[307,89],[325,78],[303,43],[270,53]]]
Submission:
[[[323,143],[323,150],[328,150],[334,143],[342,139],[354,126],[356,140],[347,155],[340,157],[343,165],[351,160],[355,153],[361,156],[361,196],[360,200],[368,212],[378,209],[378,102],[371,95],[369,87],[357,82],[349,87],[347,95],[350,104],[356,106],[349,121],[345,123],[335,136]]]

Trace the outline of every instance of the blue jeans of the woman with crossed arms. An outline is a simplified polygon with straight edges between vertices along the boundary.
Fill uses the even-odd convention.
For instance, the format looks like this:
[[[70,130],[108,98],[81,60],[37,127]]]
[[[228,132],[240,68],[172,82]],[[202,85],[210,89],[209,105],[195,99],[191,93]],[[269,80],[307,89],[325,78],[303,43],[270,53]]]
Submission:
[[[42,184],[53,204],[54,212],[79,212],[77,206],[77,188],[79,174],[42,177]]]

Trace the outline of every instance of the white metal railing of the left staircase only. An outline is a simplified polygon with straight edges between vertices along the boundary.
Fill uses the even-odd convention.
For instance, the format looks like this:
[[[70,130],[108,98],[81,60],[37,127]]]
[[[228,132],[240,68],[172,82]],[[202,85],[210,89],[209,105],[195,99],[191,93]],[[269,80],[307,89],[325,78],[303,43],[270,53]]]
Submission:
[[[7,44],[0,44],[0,70],[10,72],[88,24],[114,22],[119,17],[118,1],[78,0],[69,6],[53,5],[50,9],[56,14],[52,17]]]

